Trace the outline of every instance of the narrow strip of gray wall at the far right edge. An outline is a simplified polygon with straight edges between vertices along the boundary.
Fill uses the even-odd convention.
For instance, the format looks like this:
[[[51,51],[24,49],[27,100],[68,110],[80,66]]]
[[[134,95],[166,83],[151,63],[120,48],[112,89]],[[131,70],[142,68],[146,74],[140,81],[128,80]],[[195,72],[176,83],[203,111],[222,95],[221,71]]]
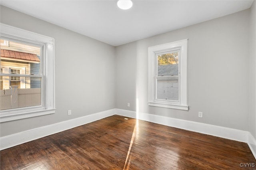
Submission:
[[[256,139],[256,1],[250,9],[250,115],[249,132]]]

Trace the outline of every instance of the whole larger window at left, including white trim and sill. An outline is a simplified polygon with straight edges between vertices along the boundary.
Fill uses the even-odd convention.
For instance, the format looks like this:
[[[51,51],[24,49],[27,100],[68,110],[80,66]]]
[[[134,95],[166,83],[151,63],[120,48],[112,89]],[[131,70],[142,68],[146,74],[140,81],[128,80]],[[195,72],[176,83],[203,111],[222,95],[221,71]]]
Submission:
[[[55,113],[54,39],[0,26],[0,122]]]

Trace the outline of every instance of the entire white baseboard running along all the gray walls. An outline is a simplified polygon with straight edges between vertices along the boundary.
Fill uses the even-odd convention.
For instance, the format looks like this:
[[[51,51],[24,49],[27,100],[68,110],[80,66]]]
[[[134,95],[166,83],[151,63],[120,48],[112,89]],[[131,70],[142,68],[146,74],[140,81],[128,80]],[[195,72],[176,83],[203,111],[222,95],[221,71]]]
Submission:
[[[38,138],[42,138],[51,134],[62,132],[74,127],[85,125],[100,119],[112,116],[112,115],[122,115],[125,117],[135,118],[142,121],[148,121],[152,123],[157,123],[160,125],[166,125],[169,127],[176,127],[185,130],[190,130],[194,132],[199,132],[203,134],[209,134],[212,136],[218,136],[221,138],[226,138],[230,140],[236,140],[240,142],[248,143],[252,154],[256,158],[256,140],[248,131],[237,130],[226,127],[219,127],[215,125],[208,125],[205,123],[198,123],[193,121],[186,121],[182,119],[175,119],[170,117],[163,117],[158,115],[152,115],[148,113],[136,113],[135,111],[128,111],[122,109],[111,109],[108,111],[103,111],[99,113],[94,113],[84,117],[79,117],[76,119],[71,119],[68,121],[63,121],[60,123],[48,125],[45,127],[35,128],[32,130],[27,130],[24,132],[11,134],[8,136],[3,136],[0,138],[0,150],[16,146],[18,144],[26,143]]]

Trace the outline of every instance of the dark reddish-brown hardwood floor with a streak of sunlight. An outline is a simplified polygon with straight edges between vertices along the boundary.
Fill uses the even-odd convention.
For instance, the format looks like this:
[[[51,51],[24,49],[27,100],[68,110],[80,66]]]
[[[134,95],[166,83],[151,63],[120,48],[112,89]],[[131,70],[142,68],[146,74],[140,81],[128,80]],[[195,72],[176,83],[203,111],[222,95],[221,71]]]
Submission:
[[[2,150],[0,169],[256,169],[246,143],[124,118],[114,115]]]

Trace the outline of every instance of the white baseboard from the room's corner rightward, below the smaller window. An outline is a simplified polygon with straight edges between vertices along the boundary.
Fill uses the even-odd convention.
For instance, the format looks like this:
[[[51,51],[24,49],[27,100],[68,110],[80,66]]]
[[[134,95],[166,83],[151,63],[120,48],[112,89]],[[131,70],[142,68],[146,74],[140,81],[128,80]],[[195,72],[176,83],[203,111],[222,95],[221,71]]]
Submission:
[[[152,115],[148,113],[136,113],[135,111],[128,111],[128,110],[122,110],[122,109],[116,109],[116,115],[122,115],[122,116],[131,117],[131,118],[135,118],[143,121],[157,123],[160,125],[181,128],[181,129],[199,132],[203,134],[209,134],[212,136],[217,136],[217,137],[226,138],[230,140],[236,140],[239,142],[246,142],[256,159],[256,140],[254,139],[252,134],[250,134],[250,132],[248,131],[238,130],[233,128],[226,128],[226,127],[219,127],[215,125],[208,125],[205,123],[186,121],[186,120],[175,119],[170,117],[163,117],[163,116]]]

